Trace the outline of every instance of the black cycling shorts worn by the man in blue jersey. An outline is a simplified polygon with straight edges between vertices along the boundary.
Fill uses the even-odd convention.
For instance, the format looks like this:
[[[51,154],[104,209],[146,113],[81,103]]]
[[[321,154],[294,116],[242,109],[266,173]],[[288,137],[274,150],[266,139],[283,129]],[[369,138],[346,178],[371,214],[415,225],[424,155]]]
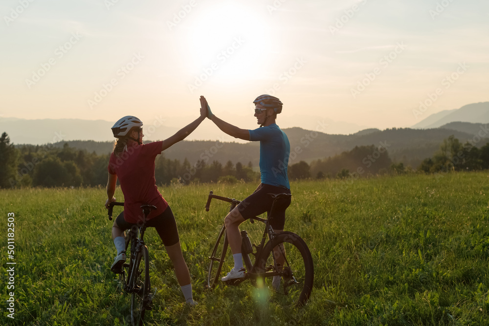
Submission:
[[[274,230],[283,230],[285,226],[285,210],[290,205],[290,197],[280,200],[275,203],[273,217],[270,217],[270,209],[272,208],[273,198],[268,194],[290,194],[289,189],[267,185],[262,183],[260,189],[255,191],[250,196],[247,196],[239,203],[238,211],[244,219],[255,217],[267,212],[268,222]]]

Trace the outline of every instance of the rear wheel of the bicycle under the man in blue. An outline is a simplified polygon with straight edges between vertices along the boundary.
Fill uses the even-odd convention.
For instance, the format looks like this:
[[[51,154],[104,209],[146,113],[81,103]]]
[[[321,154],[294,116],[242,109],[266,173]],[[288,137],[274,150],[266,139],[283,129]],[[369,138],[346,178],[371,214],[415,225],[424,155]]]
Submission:
[[[295,233],[282,232],[267,242],[258,263],[258,272],[266,273],[263,286],[274,292],[284,306],[300,307],[311,295],[314,281],[311,252]],[[276,275],[275,282],[273,275]]]

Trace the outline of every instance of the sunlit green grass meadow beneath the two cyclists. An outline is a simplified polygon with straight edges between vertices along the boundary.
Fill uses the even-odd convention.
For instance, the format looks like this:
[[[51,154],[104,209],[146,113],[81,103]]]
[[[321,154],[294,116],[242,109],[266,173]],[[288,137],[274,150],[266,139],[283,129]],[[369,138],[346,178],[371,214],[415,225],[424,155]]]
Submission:
[[[355,181],[291,182],[286,230],[308,243],[315,266],[309,303],[263,303],[250,283],[205,290],[208,255],[226,204],[256,184],[160,188],[177,217],[196,307],[183,304],[154,230],[157,292],[146,325],[489,325],[489,175],[405,175]],[[2,302],[14,292],[15,319],[1,325],[128,325],[129,296],[110,271],[115,254],[105,189],[0,191]],[[120,189],[116,197],[122,199]],[[114,214],[115,214],[114,209]],[[7,214],[15,214],[15,255],[7,259]],[[255,223],[256,224],[256,223]],[[256,225],[253,225],[256,228]],[[243,229],[256,237],[258,228]],[[255,243],[258,240],[254,241]],[[15,261],[8,290],[7,261]]]

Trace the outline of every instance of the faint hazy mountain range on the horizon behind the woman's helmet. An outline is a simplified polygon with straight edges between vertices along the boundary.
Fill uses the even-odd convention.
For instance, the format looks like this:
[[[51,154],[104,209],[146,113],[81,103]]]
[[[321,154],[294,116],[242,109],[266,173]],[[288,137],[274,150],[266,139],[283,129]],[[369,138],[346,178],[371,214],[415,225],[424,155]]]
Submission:
[[[232,117],[234,121],[241,121],[243,117],[229,114],[226,118]],[[155,141],[170,137],[180,128],[193,121],[196,117],[154,117],[145,121],[143,126],[144,139]],[[94,140],[94,141],[113,141],[110,128],[113,121],[105,120],[82,120],[82,119],[19,119],[6,118],[0,116],[0,133],[5,131],[14,144],[42,145],[51,144],[58,141],[73,140]],[[365,129],[365,126],[358,126],[348,122],[338,122],[319,116],[284,116],[280,117],[278,124],[281,128],[287,126],[305,126],[306,129],[321,130],[330,134],[353,133]],[[177,127],[175,127],[177,126]],[[257,125],[250,125],[248,128],[256,128]],[[240,139],[234,139],[222,133],[214,124],[202,123],[187,140],[195,139],[220,139],[221,141],[237,141],[244,143]]]

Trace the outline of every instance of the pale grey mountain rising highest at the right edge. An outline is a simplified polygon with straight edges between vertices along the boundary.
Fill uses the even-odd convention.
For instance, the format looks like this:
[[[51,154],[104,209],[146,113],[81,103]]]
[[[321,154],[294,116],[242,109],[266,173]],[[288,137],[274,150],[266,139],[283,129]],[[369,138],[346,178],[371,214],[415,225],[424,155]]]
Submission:
[[[445,110],[428,116],[413,129],[438,128],[450,122],[489,123],[489,102],[473,103],[460,109]]]

